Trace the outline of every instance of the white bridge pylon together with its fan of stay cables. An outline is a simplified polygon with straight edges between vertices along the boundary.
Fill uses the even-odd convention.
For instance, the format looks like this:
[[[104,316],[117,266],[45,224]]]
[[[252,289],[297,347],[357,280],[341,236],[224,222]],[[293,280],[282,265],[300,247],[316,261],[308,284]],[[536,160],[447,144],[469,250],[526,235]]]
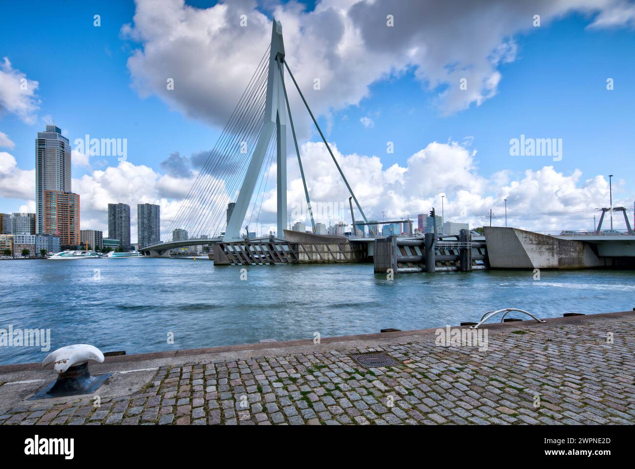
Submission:
[[[140,249],[141,251],[146,254],[164,255],[174,248],[211,244],[221,241],[221,239],[224,242],[241,239],[243,222],[248,227],[258,225],[260,221],[260,209],[267,185],[274,183],[269,181],[274,155],[277,192],[276,237],[284,239],[284,228],[287,221],[286,143],[288,129],[291,130],[293,136],[293,145],[300,166],[308,213],[311,217],[312,230],[315,233],[309,190],[304,177],[304,168],[300,159],[300,150],[293,127],[286,84],[284,83],[285,69],[363,219],[363,223],[359,221],[358,225],[368,224],[357,197],[337,159],[335,159],[331,147],[326,142],[324,133],[302,94],[300,86],[291,73],[284,55],[282,25],[279,21],[274,20],[270,46],[258,63],[256,71],[244,89],[243,95],[215,147],[211,150],[207,161],[178,209],[177,215],[164,234],[163,242],[147,246]],[[233,202],[234,197],[236,197],[235,206],[229,220],[227,220],[227,204]],[[354,218],[353,213],[351,216]],[[220,233],[222,233],[221,230],[225,227],[225,223],[227,223],[227,227],[221,237]],[[177,228],[186,230],[189,239],[182,241],[171,239],[172,231]]]

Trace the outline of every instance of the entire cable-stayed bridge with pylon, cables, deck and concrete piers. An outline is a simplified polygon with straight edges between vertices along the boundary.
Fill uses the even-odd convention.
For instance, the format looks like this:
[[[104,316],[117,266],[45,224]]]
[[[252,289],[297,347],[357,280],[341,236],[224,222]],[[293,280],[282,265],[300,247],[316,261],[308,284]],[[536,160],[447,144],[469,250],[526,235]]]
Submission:
[[[385,223],[410,220],[368,222],[351,185],[337,162],[309,103],[302,94],[284,55],[282,25],[273,22],[271,44],[234,112],[225,125],[203,168],[178,209],[163,242],[140,249],[150,256],[169,256],[171,249],[214,244],[215,265],[252,265],[298,262],[370,261],[375,272],[435,272],[436,270],[471,271],[482,268],[585,268],[625,267],[635,265],[635,233],[624,207],[603,208],[598,227],[578,236],[577,232],[544,235],[517,228],[485,227],[485,239],[474,239],[469,230],[460,235],[443,235],[436,227],[425,239],[397,239],[396,236],[375,239],[347,239],[341,236],[317,235],[304,177],[297,136],[284,81],[284,72],[293,83],[309,116],[311,116],[326,149],[333,159],[349,192],[351,221],[355,235],[360,225],[377,227]],[[298,158],[307,212],[313,234],[286,230],[286,157],[287,131],[290,129]],[[276,161],[277,232],[265,239],[249,239],[249,227],[258,226],[260,209],[269,181],[271,166]],[[234,202],[235,199],[235,202]],[[234,202],[229,218],[227,206]],[[358,210],[356,215],[353,202]],[[612,205],[612,201],[611,201]],[[621,211],[627,230],[613,230],[613,212]],[[611,218],[610,236],[602,230],[606,213]],[[432,220],[436,220],[434,208]],[[241,237],[241,229],[247,232]],[[505,223],[506,225],[506,223]],[[225,228],[225,231],[221,230]],[[175,229],[187,231],[188,239],[172,239]],[[257,231],[257,229],[255,230]],[[376,233],[375,233],[376,235]],[[374,236],[373,236],[374,238]]]

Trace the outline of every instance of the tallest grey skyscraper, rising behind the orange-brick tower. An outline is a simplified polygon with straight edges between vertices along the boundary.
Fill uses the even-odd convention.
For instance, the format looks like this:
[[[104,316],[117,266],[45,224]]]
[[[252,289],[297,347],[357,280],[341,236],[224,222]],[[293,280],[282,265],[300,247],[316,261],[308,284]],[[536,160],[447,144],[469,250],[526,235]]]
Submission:
[[[44,233],[44,191],[70,192],[70,143],[56,126],[36,138],[36,233]]]

